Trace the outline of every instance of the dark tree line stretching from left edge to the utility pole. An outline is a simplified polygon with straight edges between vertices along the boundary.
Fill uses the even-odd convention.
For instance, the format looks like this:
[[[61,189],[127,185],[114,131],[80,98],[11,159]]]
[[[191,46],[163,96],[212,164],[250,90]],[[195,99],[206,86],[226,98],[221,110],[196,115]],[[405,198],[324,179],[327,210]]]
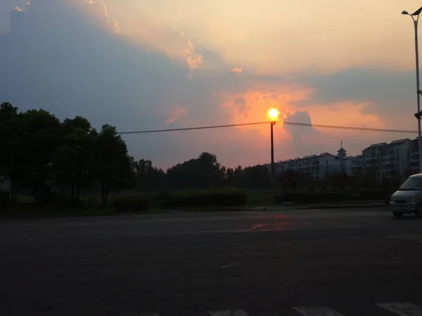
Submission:
[[[96,130],[84,117],[60,121],[45,110],[19,112],[11,103],[0,105],[0,139],[0,179],[10,182],[12,202],[20,192],[39,202],[60,192],[78,202],[87,190],[98,190],[106,204],[113,190],[270,187],[267,166],[226,168],[203,152],[164,171],[132,157],[115,126]]]

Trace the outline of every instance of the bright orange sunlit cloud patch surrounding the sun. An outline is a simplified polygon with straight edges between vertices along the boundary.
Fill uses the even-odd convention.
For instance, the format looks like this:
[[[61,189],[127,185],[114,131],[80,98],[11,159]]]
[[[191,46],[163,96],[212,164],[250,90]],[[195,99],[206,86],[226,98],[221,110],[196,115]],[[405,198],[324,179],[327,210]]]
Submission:
[[[305,154],[333,152],[338,150],[340,141],[347,144],[349,154],[359,154],[368,143],[377,143],[391,137],[383,133],[370,133],[339,129],[324,129],[306,126],[284,125],[283,121],[305,124],[323,124],[336,126],[373,127],[382,129],[385,124],[376,114],[365,114],[365,107],[371,103],[312,104],[315,89],[305,86],[284,86],[264,90],[254,89],[245,93],[226,96],[222,108],[229,112],[234,124],[266,121],[267,111],[271,107],[281,112],[280,121],[275,126],[275,138],[278,143],[278,159],[289,159]],[[303,105],[306,101],[307,105]],[[301,105],[298,106],[298,103]],[[269,137],[269,125],[239,126],[244,133],[259,131],[262,140]],[[264,141],[265,143],[265,141]],[[365,145],[362,146],[362,143]],[[252,144],[251,144],[252,145]],[[256,146],[257,144],[253,144]]]

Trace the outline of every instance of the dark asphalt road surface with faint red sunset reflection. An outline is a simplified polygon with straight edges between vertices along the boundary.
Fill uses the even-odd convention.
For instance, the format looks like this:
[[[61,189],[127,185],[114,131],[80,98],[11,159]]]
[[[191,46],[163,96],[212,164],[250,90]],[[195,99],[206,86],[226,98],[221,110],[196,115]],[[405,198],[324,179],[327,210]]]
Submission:
[[[0,315],[422,315],[422,220],[388,211],[0,222]]]

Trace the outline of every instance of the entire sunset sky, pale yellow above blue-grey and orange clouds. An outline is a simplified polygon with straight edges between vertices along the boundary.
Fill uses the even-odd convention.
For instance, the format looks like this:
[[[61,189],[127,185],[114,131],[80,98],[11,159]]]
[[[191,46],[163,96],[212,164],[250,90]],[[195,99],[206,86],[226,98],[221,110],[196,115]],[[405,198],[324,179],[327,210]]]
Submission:
[[[82,115],[96,128],[176,129],[265,121],[276,160],[355,155],[416,134],[408,0],[1,0],[0,102]],[[217,154],[226,166],[270,159],[269,125],[124,136],[166,168]]]

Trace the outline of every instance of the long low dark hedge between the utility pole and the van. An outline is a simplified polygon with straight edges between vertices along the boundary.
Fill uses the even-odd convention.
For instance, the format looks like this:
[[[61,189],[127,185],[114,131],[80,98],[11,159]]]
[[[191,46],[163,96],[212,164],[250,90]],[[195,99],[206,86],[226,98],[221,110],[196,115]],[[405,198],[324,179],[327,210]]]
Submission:
[[[317,202],[342,202],[342,201],[369,201],[385,200],[394,192],[377,190],[351,192],[292,192],[276,196],[276,202],[299,202],[299,203],[317,203]]]

